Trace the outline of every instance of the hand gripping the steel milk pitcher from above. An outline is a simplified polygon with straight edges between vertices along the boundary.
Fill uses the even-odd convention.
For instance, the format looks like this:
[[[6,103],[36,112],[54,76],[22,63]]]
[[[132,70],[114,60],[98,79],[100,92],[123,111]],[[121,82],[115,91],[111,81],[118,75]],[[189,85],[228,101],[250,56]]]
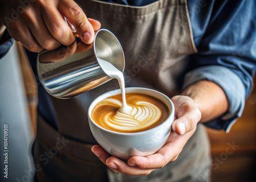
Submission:
[[[9,34],[30,51],[53,50],[61,44],[70,45],[75,35],[63,19],[74,25],[86,44],[94,40],[100,22],[87,18],[73,0],[4,0],[1,17]]]

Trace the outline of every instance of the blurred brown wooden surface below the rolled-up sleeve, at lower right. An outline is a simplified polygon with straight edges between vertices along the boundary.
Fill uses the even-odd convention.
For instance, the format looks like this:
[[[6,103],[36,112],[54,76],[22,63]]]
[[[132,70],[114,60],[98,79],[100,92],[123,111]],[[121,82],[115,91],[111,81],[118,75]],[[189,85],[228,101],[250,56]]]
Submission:
[[[255,87],[246,100],[242,117],[228,134],[209,128],[207,132],[211,142],[212,182],[256,181]],[[230,144],[235,145],[233,150]]]

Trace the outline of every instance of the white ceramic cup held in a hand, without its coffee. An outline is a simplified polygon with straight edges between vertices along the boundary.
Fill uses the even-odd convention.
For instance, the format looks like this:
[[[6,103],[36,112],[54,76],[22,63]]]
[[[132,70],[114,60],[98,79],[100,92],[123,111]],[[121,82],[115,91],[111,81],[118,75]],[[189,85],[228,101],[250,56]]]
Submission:
[[[133,156],[147,156],[158,151],[166,142],[170,128],[174,121],[174,105],[166,95],[147,88],[125,88],[125,93],[142,93],[162,100],[169,108],[169,117],[160,125],[137,133],[120,133],[105,129],[92,119],[92,110],[101,100],[120,94],[121,90],[112,90],[98,96],[88,109],[88,119],[92,134],[99,145],[107,152],[120,159],[129,159]]]

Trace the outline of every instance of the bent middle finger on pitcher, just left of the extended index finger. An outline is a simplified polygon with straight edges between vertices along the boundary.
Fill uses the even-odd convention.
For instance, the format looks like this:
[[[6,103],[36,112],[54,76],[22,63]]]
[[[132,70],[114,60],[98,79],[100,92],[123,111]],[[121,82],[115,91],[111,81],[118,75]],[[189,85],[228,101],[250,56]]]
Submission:
[[[75,41],[75,35],[56,8],[44,8],[42,18],[50,34],[63,45],[70,45]]]

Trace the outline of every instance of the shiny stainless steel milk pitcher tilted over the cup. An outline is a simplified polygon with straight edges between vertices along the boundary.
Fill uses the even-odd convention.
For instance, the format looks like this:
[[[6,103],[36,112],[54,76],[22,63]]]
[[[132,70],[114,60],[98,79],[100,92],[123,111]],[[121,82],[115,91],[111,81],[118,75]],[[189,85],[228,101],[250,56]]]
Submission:
[[[112,63],[123,72],[124,55],[117,38],[100,29],[90,45],[76,40],[69,46],[44,50],[37,57],[39,80],[49,94],[70,98],[110,81],[97,59]]]

